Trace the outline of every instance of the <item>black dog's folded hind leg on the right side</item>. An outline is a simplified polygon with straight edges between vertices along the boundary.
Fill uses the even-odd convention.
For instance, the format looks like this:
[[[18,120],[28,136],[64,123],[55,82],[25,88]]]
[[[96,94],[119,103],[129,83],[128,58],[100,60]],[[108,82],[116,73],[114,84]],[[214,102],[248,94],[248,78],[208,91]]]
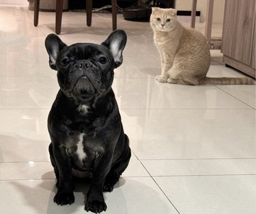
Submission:
[[[126,170],[130,161],[131,151],[128,143],[128,137],[125,135],[125,149],[120,159],[111,166],[109,174],[106,175],[103,192],[112,192],[115,183],[119,180],[121,174]]]

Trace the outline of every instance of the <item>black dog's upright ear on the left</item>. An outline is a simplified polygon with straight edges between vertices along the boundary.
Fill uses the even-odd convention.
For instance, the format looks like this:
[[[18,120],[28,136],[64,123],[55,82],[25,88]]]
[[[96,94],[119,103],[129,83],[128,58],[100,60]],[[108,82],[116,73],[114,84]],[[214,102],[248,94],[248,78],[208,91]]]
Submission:
[[[57,57],[61,49],[66,47],[66,44],[64,44],[57,35],[51,33],[45,39],[45,47],[49,55],[49,65],[51,69],[57,70]]]

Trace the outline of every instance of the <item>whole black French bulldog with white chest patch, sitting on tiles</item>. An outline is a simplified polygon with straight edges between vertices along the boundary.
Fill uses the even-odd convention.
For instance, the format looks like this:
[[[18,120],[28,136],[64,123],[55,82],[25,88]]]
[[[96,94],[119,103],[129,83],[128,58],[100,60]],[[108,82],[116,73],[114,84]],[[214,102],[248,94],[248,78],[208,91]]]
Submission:
[[[57,204],[74,202],[74,177],[91,177],[85,211],[106,211],[102,192],[111,192],[128,166],[129,140],[111,88],[126,40],[122,30],[100,45],[66,46],[55,34],[46,37],[49,64],[57,70],[60,87],[48,116]]]

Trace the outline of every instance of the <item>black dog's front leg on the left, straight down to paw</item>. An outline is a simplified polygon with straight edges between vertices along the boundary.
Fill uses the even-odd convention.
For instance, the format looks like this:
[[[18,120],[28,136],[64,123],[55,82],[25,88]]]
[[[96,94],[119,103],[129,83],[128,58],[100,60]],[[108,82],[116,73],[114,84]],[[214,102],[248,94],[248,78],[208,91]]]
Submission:
[[[74,202],[72,167],[70,157],[66,153],[65,147],[53,144],[53,154],[59,170],[59,187],[53,201],[58,205],[72,204]]]

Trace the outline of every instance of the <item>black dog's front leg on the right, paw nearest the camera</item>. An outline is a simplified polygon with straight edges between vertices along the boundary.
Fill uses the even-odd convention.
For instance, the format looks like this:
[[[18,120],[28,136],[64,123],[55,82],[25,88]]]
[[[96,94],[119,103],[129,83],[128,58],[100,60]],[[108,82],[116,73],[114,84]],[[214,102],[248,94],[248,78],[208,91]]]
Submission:
[[[101,153],[94,162],[93,177],[91,187],[87,193],[87,202],[85,203],[85,211],[100,213],[106,211],[106,203],[103,197],[103,185],[106,174],[111,168],[113,153]]]

